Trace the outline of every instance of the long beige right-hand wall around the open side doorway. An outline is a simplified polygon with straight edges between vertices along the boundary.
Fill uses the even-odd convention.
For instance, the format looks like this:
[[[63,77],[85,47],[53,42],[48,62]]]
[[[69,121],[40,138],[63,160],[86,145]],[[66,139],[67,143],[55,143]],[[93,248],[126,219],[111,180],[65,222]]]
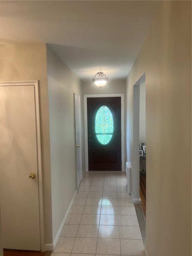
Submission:
[[[191,1],[163,1],[127,78],[133,159],[133,86],[146,72],[146,248],[191,255]]]

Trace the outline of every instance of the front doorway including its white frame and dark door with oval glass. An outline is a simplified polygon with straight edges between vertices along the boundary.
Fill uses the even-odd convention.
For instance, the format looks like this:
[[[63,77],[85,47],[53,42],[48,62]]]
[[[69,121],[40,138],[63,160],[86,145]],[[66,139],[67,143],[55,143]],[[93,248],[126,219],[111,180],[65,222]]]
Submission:
[[[116,105],[114,99],[117,100],[118,98],[119,103]],[[92,108],[91,111],[90,108]],[[118,108],[119,112],[117,113]],[[100,113],[101,116],[99,117]],[[97,131],[97,119],[102,119],[102,113],[108,113],[107,122],[110,130],[105,131],[101,135],[101,132]],[[85,172],[103,170],[101,166],[104,167],[104,170],[120,170],[125,172],[124,94],[84,95],[84,118]],[[116,140],[114,140],[117,130],[119,133],[119,144],[115,149],[113,146],[117,144]],[[105,150],[101,152],[97,146]],[[110,146],[112,147],[110,148]],[[94,159],[94,157],[95,161],[93,163],[90,162],[90,159]],[[106,159],[108,160],[106,161]],[[107,166],[105,166],[106,164]],[[114,166],[116,169],[113,169]]]

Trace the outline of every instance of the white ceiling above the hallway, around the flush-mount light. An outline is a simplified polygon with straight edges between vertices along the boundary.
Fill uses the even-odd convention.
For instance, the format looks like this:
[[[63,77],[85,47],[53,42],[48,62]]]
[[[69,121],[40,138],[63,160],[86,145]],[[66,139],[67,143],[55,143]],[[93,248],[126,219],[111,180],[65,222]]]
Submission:
[[[82,80],[124,79],[161,1],[0,1],[1,44],[46,42]]]

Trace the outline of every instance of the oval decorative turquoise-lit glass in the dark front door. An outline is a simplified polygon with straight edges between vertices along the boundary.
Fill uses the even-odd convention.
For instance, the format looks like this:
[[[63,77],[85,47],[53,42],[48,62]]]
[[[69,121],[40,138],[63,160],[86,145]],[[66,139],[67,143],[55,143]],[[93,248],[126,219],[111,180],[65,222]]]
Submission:
[[[113,135],[113,116],[107,106],[101,106],[95,117],[95,133],[98,141],[106,145]]]

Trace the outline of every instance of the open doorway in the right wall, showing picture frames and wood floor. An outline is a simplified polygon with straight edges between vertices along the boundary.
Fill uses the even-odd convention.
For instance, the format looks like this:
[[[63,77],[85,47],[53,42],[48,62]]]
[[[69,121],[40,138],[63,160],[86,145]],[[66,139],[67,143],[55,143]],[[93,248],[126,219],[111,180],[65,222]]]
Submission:
[[[136,203],[136,212],[143,241],[146,236],[146,93],[145,73],[133,86],[133,164],[132,164],[132,197]],[[141,141],[142,140],[142,141]],[[139,148],[140,147],[140,148]],[[145,153],[144,153],[145,151]],[[141,170],[141,171],[140,171]],[[143,190],[142,190],[143,189]],[[145,196],[144,196],[145,194]],[[146,211],[146,210],[145,210]]]

